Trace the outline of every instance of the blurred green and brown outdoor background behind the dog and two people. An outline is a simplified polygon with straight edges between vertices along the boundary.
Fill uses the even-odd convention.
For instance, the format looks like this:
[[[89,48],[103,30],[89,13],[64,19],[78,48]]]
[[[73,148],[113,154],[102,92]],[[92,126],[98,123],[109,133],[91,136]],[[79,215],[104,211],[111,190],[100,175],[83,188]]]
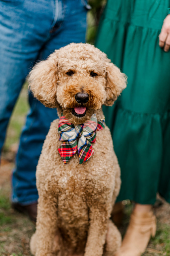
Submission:
[[[100,15],[105,0],[90,0],[91,10],[88,12],[87,42],[94,44]],[[10,179],[14,167],[18,141],[28,106],[28,84],[25,82],[19,99],[13,111],[6,142],[4,145],[0,167],[0,256],[30,256],[29,241],[35,230],[34,224],[10,207]],[[127,227],[132,203],[124,201],[125,214],[120,227],[124,234]],[[148,249],[143,255],[170,256],[170,206],[161,198],[155,205],[155,214],[158,220],[156,237],[151,239]]]

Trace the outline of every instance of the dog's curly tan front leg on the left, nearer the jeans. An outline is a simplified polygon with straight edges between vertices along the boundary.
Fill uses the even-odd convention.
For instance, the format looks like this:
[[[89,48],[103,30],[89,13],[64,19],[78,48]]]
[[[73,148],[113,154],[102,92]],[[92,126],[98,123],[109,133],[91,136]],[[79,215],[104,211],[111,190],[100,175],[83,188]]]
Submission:
[[[51,195],[40,195],[38,199],[38,212],[36,232],[31,238],[31,252],[35,256],[57,255],[55,238],[57,233],[57,199]],[[54,245],[55,244],[55,245]],[[55,250],[54,250],[55,246]]]

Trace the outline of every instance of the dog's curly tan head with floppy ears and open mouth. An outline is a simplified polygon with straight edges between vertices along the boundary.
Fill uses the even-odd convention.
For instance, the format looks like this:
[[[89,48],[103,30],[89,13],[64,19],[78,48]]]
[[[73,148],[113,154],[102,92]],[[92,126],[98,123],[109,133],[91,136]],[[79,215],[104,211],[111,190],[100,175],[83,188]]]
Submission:
[[[99,49],[72,43],[36,64],[29,84],[45,106],[60,108],[69,122],[81,124],[103,104],[113,104],[126,76]]]

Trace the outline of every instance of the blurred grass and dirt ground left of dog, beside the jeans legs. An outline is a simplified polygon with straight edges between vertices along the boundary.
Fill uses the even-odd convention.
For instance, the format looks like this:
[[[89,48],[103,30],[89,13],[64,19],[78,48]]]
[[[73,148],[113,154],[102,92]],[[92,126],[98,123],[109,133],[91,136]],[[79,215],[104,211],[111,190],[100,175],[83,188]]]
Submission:
[[[27,218],[11,209],[10,204],[10,176],[13,168],[14,152],[28,112],[28,84],[25,83],[16,103],[9,122],[6,141],[3,149],[3,158],[12,160],[2,164],[0,169],[0,256],[27,256],[30,237],[35,226]],[[11,151],[12,153],[11,158]]]

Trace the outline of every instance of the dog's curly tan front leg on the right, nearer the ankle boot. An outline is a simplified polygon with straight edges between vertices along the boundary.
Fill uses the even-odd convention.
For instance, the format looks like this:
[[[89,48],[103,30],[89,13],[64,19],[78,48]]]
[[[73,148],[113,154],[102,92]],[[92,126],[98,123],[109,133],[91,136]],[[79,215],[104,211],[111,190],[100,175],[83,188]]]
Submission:
[[[106,241],[106,232],[110,209],[106,205],[90,208],[90,226],[84,256],[102,256],[103,245]]]

